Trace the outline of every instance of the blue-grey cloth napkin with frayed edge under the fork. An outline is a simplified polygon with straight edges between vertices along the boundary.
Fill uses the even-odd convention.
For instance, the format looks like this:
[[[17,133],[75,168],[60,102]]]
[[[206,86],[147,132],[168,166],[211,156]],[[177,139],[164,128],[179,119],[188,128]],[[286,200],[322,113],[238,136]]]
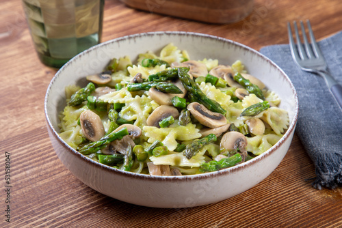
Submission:
[[[342,84],[342,31],[318,42],[328,71]],[[260,50],[291,79],[298,93],[299,117],[296,133],[313,160],[315,188],[335,188],[342,184],[342,111],[324,79],[304,72],[293,61],[289,44],[266,46]]]

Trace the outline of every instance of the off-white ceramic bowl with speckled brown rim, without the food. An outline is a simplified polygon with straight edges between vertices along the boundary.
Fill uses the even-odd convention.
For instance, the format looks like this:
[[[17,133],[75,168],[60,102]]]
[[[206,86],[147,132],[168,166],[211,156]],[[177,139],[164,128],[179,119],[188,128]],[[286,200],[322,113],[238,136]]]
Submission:
[[[66,85],[79,84],[85,76],[101,72],[110,59],[138,53],[159,52],[173,42],[187,50],[192,59],[218,59],[219,63],[233,63],[237,59],[246,70],[259,77],[278,94],[280,108],[289,112],[290,124],[285,135],[267,152],[235,167],[184,176],[151,176],[129,173],[101,165],[79,154],[58,135],[58,114],[64,106]],[[156,208],[187,208],[215,203],[233,197],[263,181],[284,158],[295,130],[298,117],[298,98],[287,75],[272,61],[248,46],[231,40],[185,32],[141,33],[98,44],[80,53],[55,74],[45,97],[45,115],[49,137],[55,152],[65,167],[81,182],[99,193],[136,205]]]

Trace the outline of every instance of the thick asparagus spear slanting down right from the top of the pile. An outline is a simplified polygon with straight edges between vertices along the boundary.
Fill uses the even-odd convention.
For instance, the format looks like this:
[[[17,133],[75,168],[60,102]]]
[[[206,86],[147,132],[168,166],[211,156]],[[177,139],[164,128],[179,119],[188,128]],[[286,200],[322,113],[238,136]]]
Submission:
[[[222,109],[222,106],[218,102],[211,100],[203,94],[197,83],[187,74],[188,71],[189,68],[178,68],[179,79],[181,79],[184,88],[187,90],[187,96],[190,101],[203,104],[207,109],[215,113],[226,114],[226,110]]]

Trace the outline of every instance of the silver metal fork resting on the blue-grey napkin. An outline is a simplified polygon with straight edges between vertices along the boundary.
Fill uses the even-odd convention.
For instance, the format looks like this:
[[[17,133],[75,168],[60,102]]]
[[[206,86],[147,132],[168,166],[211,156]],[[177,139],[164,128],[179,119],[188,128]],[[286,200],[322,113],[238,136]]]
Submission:
[[[304,24],[302,21],[300,21],[304,45],[300,42],[300,35],[298,32],[297,23],[293,22],[297,45],[295,45],[295,42],[293,40],[290,23],[287,23],[287,30],[289,32],[289,42],[293,60],[298,63],[302,70],[313,72],[324,77],[332,95],[337,100],[339,106],[342,109],[342,85],[337,83],[337,81],[329,74],[326,60],[324,59],[321,51],[319,50],[319,47],[317,46],[309,20],[306,20],[306,23],[308,24],[308,33],[310,35],[311,44],[309,44],[308,38],[306,38]]]

